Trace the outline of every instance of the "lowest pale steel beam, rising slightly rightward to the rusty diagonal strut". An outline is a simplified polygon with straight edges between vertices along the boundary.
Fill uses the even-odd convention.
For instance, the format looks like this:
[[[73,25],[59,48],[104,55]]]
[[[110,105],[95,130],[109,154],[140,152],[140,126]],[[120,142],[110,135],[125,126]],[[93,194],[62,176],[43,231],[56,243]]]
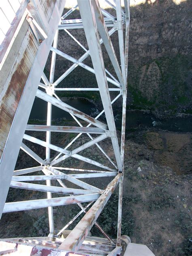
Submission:
[[[100,194],[88,194],[5,203],[3,213],[90,202],[97,200],[99,196]]]

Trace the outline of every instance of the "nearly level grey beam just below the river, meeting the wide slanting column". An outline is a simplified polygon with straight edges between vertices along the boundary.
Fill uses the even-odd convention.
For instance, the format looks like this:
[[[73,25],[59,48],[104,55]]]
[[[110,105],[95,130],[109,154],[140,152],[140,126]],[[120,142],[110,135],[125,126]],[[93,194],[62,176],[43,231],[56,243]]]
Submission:
[[[26,130],[32,131],[50,131],[50,132],[72,132],[72,133],[93,133],[102,134],[105,130],[95,127],[76,127],[76,126],[47,126],[47,125],[32,125],[28,124]]]

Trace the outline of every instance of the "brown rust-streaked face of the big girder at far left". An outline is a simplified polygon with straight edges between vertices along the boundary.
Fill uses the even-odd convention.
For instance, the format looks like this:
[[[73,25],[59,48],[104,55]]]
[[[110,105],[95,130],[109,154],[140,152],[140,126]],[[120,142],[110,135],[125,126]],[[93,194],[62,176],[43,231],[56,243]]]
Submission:
[[[13,118],[32,67],[34,60],[32,56],[35,57],[37,49],[36,40],[32,34],[29,33],[28,45],[23,53],[23,57],[19,63],[15,62],[12,71],[13,74],[9,74],[9,77],[11,76],[11,81],[0,102],[0,157],[2,156]],[[16,58],[19,57],[18,55]]]

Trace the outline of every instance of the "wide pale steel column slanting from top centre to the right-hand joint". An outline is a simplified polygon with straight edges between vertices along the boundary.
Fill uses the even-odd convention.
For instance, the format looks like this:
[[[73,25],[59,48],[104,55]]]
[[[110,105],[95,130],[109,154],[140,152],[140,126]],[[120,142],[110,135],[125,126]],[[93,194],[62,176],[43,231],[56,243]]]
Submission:
[[[78,6],[83,22],[83,27],[85,30],[85,36],[87,38],[87,44],[90,50],[93,67],[95,70],[96,80],[100,90],[100,96],[105,111],[105,117],[107,119],[107,124],[111,135],[111,142],[113,144],[117,167],[119,171],[122,172],[122,161],[120,156],[119,143],[117,139],[117,132],[115,128],[115,120],[113,116],[113,109],[111,106],[111,99],[107,84],[105,66],[102,58],[102,51],[99,43],[99,35],[92,0],[78,0]]]

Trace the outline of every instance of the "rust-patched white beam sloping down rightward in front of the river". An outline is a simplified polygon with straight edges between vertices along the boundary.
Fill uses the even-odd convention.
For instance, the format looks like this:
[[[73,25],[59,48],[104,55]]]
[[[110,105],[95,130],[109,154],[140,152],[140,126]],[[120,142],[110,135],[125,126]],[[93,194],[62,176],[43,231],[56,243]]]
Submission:
[[[89,115],[79,111],[78,109],[75,109],[74,107],[71,107],[70,105],[68,105],[64,102],[62,102],[58,99],[55,99],[55,98],[51,97],[50,95],[47,95],[45,92],[37,90],[36,96],[38,98],[41,98],[42,100],[50,102],[52,105],[54,105],[60,109],[63,109],[64,111],[67,111],[68,113],[75,115],[76,117],[83,119],[84,121],[86,121],[88,123],[91,123],[101,129],[108,130],[108,126],[106,124],[103,124],[102,122],[94,119],[93,117],[90,117]]]

